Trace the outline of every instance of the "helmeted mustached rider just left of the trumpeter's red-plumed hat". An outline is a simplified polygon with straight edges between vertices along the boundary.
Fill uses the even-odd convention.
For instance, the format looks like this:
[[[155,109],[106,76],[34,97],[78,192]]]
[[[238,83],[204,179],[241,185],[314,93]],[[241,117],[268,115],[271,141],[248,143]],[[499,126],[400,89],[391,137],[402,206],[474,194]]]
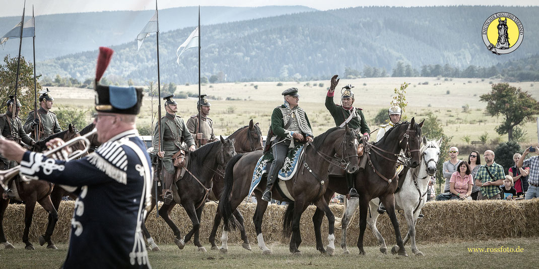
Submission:
[[[34,110],[30,111],[23,126],[24,131],[26,133],[31,133],[30,136],[36,141],[61,131],[56,114],[50,111],[52,104],[54,103],[54,98],[52,98],[49,93],[49,88],[39,92],[41,95],[39,96],[40,108],[37,110],[38,116],[34,118],[34,116],[36,116]],[[36,126],[38,126],[39,130],[39,139],[36,138],[36,132],[34,132]]]

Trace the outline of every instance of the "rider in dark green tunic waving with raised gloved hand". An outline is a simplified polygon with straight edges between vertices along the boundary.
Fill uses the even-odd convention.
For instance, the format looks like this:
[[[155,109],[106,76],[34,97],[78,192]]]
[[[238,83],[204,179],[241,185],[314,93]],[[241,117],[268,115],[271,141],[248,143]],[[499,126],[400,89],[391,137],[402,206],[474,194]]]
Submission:
[[[354,93],[351,91],[354,86],[347,85],[344,86],[341,90],[341,103],[342,105],[337,105],[333,102],[333,96],[335,95],[335,87],[339,80],[337,79],[338,75],[331,77],[331,86],[329,87],[328,94],[326,96],[326,108],[329,110],[331,116],[335,121],[335,125],[339,127],[344,127],[348,125],[350,129],[356,130],[357,133],[363,133],[364,136],[367,136],[369,140],[369,126],[365,121],[365,116],[361,108],[354,108]],[[361,142],[362,143],[362,142]],[[348,193],[350,194],[350,199],[358,199],[360,195],[357,193],[357,190],[354,186],[355,176],[354,174],[346,173],[346,183],[348,185]]]

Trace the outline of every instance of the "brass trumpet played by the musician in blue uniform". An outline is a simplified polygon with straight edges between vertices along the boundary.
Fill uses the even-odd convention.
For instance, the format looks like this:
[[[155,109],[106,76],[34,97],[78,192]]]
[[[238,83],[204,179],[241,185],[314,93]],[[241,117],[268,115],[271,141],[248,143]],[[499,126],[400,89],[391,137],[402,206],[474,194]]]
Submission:
[[[63,145],[60,145],[58,147],[55,147],[53,148],[52,150],[49,150],[49,151],[46,151],[46,152],[43,152],[43,154],[46,156],[46,157],[51,157],[52,155],[60,152],[60,151],[63,151],[66,147],[70,147],[72,145],[74,145],[75,143],[78,143],[79,141],[84,141],[85,143],[85,149],[84,150],[76,150],[76,151],[73,151],[71,154],[62,154],[64,155],[64,160],[65,161],[71,161],[71,160],[74,160],[74,159],[77,159],[79,157],[81,157],[83,154],[85,154],[86,152],[88,152],[88,149],[90,148],[90,141],[88,140],[88,137],[92,136],[92,134],[94,134],[95,132],[97,132],[97,129],[93,129],[92,131],[86,133],[84,136],[78,136],[78,137],[75,137],[69,141],[66,141]],[[61,154],[61,153],[60,153]],[[19,169],[20,169],[20,165],[17,165],[15,167],[12,167],[12,168],[9,168],[7,170],[3,170],[3,171],[0,171],[0,187],[2,187],[4,190],[7,190],[9,188],[9,181],[13,178],[15,178],[15,176],[17,176],[17,174],[19,173]],[[24,179],[24,177],[21,177],[21,179],[27,181],[27,179]]]

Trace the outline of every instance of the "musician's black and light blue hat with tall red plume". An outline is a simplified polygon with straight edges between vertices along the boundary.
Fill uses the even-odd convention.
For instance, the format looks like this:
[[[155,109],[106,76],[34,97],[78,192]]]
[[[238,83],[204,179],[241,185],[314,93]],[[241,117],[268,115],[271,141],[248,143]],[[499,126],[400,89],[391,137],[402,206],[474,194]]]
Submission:
[[[99,47],[98,63],[95,71],[95,110],[118,114],[139,114],[142,105],[142,88],[99,84],[99,80],[105,73],[112,54],[112,49]]]

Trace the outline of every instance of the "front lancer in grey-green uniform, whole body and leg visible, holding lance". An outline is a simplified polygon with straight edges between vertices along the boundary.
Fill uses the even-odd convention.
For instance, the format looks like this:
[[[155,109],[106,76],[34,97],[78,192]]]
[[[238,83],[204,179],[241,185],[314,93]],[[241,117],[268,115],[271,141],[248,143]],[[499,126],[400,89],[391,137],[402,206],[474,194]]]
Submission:
[[[187,126],[183,123],[183,119],[176,116],[178,111],[178,104],[174,99],[174,94],[164,97],[165,111],[167,114],[161,118],[161,124],[155,124],[154,139],[152,144],[154,146],[154,153],[162,159],[164,171],[164,186],[163,186],[163,202],[169,204],[172,201],[172,192],[170,186],[174,182],[175,167],[172,165],[172,155],[179,150],[184,150],[182,143],[185,142],[189,147],[189,151],[195,151],[195,141],[191,136]],[[159,137],[159,126],[161,125],[161,137]],[[159,148],[161,143],[162,150]],[[156,169],[157,170],[157,169]]]

